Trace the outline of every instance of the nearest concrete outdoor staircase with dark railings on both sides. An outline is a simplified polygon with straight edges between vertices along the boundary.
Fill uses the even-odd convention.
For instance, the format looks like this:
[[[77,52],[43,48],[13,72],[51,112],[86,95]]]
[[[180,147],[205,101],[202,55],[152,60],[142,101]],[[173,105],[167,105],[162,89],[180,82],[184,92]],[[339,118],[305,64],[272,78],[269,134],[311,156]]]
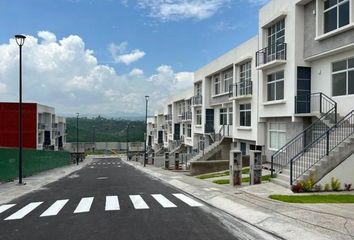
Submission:
[[[336,108],[335,104],[272,156],[272,175],[277,174],[272,182],[289,187],[310,173],[317,182],[354,154],[354,110],[335,122]]]

